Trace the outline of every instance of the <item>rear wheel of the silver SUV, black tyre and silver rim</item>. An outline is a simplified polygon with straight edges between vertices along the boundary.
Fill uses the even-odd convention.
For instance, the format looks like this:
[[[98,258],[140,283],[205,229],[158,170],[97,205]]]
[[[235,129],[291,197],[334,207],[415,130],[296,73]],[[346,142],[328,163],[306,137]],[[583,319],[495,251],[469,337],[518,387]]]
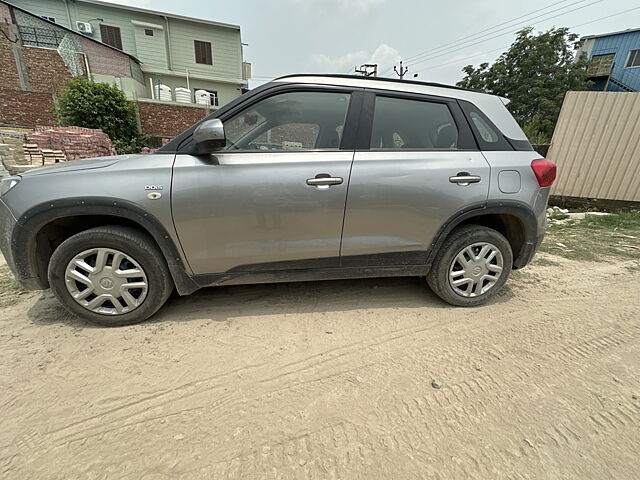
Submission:
[[[512,265],[511,245],[501,233],[480,225],[463,225],[445,240],[427,282],[445,302],[474,307],[500,290]]]

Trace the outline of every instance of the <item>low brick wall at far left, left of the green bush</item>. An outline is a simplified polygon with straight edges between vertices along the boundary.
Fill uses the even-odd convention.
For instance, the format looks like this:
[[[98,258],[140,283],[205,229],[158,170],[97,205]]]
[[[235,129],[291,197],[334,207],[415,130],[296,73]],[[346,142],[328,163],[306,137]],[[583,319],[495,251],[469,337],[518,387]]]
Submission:
[[[51,93],[0,90],[0,123],[8,125],[54,125]]]

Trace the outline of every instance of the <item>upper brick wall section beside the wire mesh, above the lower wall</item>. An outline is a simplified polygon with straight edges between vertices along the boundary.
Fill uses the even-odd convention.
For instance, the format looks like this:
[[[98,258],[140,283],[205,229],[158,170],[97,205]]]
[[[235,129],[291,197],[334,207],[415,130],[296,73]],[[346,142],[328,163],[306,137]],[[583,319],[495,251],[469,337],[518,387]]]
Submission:
[[[57,93],[68,79],[73,78],[56,50],[24,47],[22,57],[29,77],[29,87],[33,92]]]

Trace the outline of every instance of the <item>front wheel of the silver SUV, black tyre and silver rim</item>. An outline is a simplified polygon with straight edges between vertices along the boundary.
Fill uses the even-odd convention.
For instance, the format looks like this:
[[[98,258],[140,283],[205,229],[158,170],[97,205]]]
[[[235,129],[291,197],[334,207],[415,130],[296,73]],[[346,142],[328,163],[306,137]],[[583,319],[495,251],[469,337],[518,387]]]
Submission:
[[[121,226],[92,228],[62,242],[49,261],[49,284],[67,310],[105,326],[146,320],[174,287],[155,242]]]

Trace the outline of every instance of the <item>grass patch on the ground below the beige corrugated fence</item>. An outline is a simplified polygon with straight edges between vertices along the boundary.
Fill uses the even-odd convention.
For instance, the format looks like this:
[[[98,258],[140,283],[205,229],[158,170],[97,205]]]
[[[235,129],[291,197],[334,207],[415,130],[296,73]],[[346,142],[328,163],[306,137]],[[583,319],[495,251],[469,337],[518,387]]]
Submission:
[[[637,260],[640,211],[619,211],[584,220],[550,220],[540,251],[573,260]]]

